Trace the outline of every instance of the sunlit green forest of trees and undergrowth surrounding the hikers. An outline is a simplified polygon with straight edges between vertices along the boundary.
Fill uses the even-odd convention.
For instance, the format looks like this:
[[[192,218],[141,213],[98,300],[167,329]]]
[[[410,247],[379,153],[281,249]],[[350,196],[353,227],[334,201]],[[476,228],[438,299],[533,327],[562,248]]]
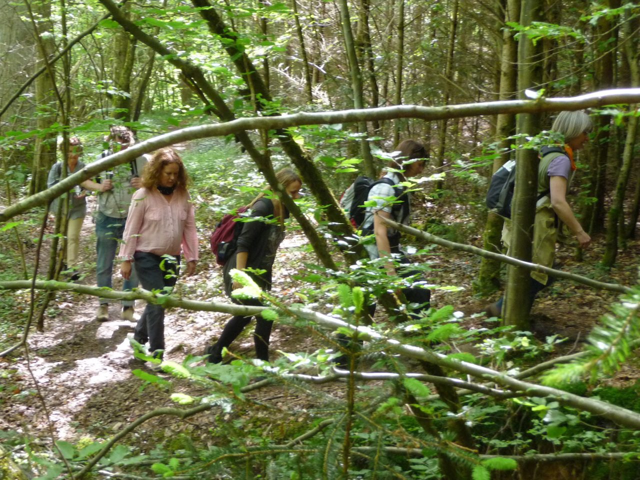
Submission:
[[[0,8],[0,479],[637,479],[637,3]],[[560,190],[573,223],[552,176],[556,253],[536,264],[541,152],[578,150],[552,128],[564,112],[589,119]],[[122,131],[135,142],[120,149]],[[410,220],[354,227],[340,197],[408,139],[426,148],[399,177]],[[127,290],[116,260],[99,286],[104,190],[79,219],[73,192],[165,147],[189,176],[195,273]],[[509,162],[506,221],[485,196]],[[270,291],[209,243],[265,191],[290,213]],[[376,247],[378,221],[413,276]],[[253,303],[225,294],[228,275]],[[416,288],[429,308],[413,310]],[[120,301],[135,319],[116,318]],[[164,356],[136,340],[145,305],[166,310]],[[253,320],[208,362],[238,316],[273,321],[269,361]]]

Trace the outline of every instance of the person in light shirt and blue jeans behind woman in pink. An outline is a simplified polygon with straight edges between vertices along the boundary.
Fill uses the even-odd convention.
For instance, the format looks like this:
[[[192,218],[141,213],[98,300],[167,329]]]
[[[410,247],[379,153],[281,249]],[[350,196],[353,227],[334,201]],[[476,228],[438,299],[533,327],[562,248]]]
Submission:
[[[122,125],[114,125],[110,129],[108,140],[111,148],[104,150],[99,159],[134,145],[133,132]],[[141,187],[142,170],[147,164],[147,157],[140,156],[130,163],[116,166],[113,170],[102,172],[96,179],[98,183],[109,180],[113,188],[98,195],[98,212],[95,218],[95,237],[97,253],[96,282],[98,287],[112,287],[113,262],[116,250],[120,247],[131,204],[131,196]],[[138,276],[135,272],[124,280],[122,289],[127,291],[138,287]],[[96,314],[97,321],[109,319],[109,303],[111,300],[100,298]],[[134,301],[122,300],[120,317],[127,321],[136,321],[134,317]]]

